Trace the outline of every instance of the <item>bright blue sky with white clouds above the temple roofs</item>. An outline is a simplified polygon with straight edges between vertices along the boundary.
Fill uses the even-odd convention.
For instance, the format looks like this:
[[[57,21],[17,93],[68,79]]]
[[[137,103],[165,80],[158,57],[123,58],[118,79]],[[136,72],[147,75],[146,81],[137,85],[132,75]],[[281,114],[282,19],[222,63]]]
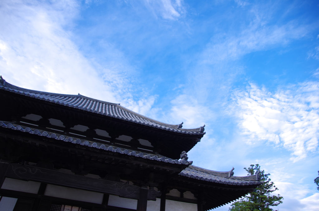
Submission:
[[[0,2],[0,73],[183,127],[200,167],[259,163],[281,211],[318,210],[317,1]],[[216,210],[228,210],[229,205]]]

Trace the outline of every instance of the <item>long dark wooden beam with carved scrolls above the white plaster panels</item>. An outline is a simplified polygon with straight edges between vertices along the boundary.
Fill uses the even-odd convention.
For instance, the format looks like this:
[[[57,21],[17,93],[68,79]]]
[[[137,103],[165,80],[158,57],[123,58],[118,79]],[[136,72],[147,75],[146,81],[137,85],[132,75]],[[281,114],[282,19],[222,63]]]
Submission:
[[[10,164],[6,177],[31,180],[53,185],[67,186],[88,191],[118,195],[125,198],[139,199],[140,187],[121,182],[108,181],[72,175],[60,171],[37,168],[28,165]],[[148,200],[156,200],[160,191],[151,190],[148,192]]]

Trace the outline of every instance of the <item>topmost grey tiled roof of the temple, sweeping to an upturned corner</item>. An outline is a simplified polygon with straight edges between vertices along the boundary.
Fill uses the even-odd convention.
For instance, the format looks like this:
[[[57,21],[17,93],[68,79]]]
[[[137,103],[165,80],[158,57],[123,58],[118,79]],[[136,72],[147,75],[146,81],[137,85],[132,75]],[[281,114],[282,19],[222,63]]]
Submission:
[[[92,113],[98,113],[101,115],[122,119],[130,122],[135,122],[137,124],[146,125],[149,127],[155,127],[162,130],[172,131],[182,134],[190,135],[204,135],[204,127],[199,127],[195,129],[184,129],[182,124],[171,125],[156,120],[152,120],[141,114],[130,111],[124,108],[120,104],[109,103],[93,98],[88,98],[83,95],[67,95],[67,94],[56,94],[43,91],[35,91],[24,89],[18,86],[14,86],[6,82],[2,77],[0,78],[0,89],[11,91],[16,94],[25,95],[31,98],[38,98],[41,100],[46,100],[51,103],[73,107],[79,110],[85,110]]]

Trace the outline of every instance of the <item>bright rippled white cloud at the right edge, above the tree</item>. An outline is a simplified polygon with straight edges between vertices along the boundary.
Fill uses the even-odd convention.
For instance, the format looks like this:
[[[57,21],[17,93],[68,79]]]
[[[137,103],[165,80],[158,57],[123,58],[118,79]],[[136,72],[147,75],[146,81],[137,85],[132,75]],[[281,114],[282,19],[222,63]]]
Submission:
[[[296,162],[316,153],[319,83],[305,82],[275,93],[254,84],[234,93],[235,115],[250,144],[272,142],[292,151]]]

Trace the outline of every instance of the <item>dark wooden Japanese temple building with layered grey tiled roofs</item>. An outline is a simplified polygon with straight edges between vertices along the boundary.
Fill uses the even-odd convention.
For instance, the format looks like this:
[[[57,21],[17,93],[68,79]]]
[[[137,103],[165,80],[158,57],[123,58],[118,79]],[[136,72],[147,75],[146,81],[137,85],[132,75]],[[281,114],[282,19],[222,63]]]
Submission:
[[[192,165],[204,126],[0,79],[0,210],[204,211],[255,191],[254,176]],[[221,161],[222,162],[222,161]]]

